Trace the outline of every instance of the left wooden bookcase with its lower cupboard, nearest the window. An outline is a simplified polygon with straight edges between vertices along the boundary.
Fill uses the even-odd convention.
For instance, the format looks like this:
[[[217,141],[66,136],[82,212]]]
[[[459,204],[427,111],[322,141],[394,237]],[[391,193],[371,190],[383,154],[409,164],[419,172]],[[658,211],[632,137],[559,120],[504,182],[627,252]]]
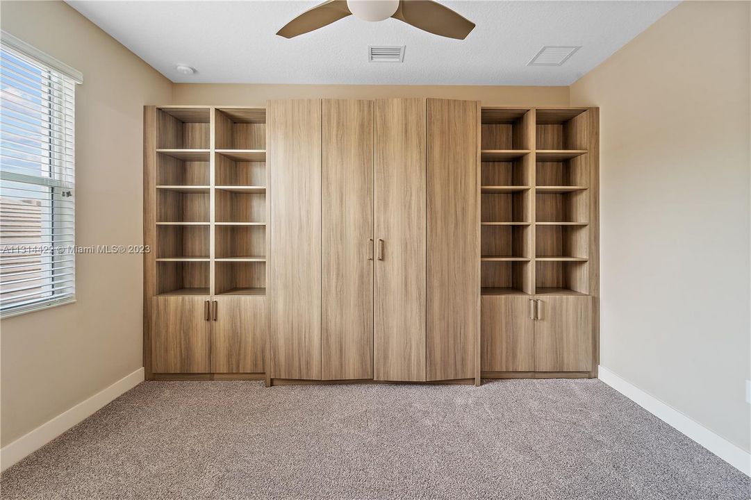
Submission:
[[[144,110],[148,378],[263,378],[266,110]]]

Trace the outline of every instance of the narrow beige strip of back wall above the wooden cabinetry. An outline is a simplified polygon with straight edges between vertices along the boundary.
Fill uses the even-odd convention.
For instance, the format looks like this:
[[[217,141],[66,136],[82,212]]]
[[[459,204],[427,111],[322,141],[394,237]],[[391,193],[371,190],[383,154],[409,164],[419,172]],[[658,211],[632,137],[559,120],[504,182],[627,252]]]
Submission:
[[[476,99],[482,101],[484,106],[568,106],[569,87],[246,85],[238,83],[177,83],[174,86],[174,104],[265,106],[269,99],[393,97]]]

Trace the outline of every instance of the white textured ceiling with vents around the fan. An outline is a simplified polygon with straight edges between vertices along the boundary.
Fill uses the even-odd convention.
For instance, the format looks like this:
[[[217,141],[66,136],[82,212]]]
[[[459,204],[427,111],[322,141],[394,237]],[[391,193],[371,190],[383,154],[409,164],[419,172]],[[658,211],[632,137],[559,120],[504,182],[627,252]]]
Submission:
[[[547,86],[575,82],[679,2],[442,2],[477,25],[463,41],[354,16],[276,36],[321,2],[68,3],[173,82]],[[368,45],[406,45],[404,62],[368,62]],[[583,47],[562,66],[527,66],[543,45]]]

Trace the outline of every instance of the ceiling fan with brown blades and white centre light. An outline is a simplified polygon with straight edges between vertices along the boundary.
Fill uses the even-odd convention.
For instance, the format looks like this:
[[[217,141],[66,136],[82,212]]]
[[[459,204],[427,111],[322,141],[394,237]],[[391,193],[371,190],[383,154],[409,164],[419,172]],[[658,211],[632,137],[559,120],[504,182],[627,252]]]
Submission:
[[[364,21],[383,21],[393,17],[434,35],[457,40],[464,40],[475,28],[472,21],[431,0],[328,0],[295,17],[276,35],[293,38],[351,14]]]

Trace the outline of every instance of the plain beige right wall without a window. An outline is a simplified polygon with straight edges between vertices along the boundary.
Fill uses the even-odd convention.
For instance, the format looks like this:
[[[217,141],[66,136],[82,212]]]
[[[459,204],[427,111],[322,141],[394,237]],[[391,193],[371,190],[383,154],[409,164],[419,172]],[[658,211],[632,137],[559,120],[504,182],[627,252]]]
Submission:
[[[571,88],[601,120],[602,366],[749,450],[749,2],[684,2]]]

